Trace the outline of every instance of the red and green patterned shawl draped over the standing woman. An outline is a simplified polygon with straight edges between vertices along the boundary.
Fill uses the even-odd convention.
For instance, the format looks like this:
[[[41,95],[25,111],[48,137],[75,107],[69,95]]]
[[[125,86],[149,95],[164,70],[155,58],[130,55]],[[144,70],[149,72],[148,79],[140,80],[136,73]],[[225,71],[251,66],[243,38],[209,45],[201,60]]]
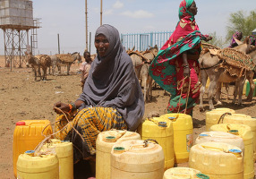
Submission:
[[[172,95],[176,94],[175,58],[183,52],[199,55],[201,53],[201,39],[208,36],[201,34],[194,15],[188,11],[193,0],[183,0],[179,8],[179,19],[174,33],[160,49],[158,55],[149,66],[150,76],[164,90]],[[200,47],[200,49],[196,49]]]

